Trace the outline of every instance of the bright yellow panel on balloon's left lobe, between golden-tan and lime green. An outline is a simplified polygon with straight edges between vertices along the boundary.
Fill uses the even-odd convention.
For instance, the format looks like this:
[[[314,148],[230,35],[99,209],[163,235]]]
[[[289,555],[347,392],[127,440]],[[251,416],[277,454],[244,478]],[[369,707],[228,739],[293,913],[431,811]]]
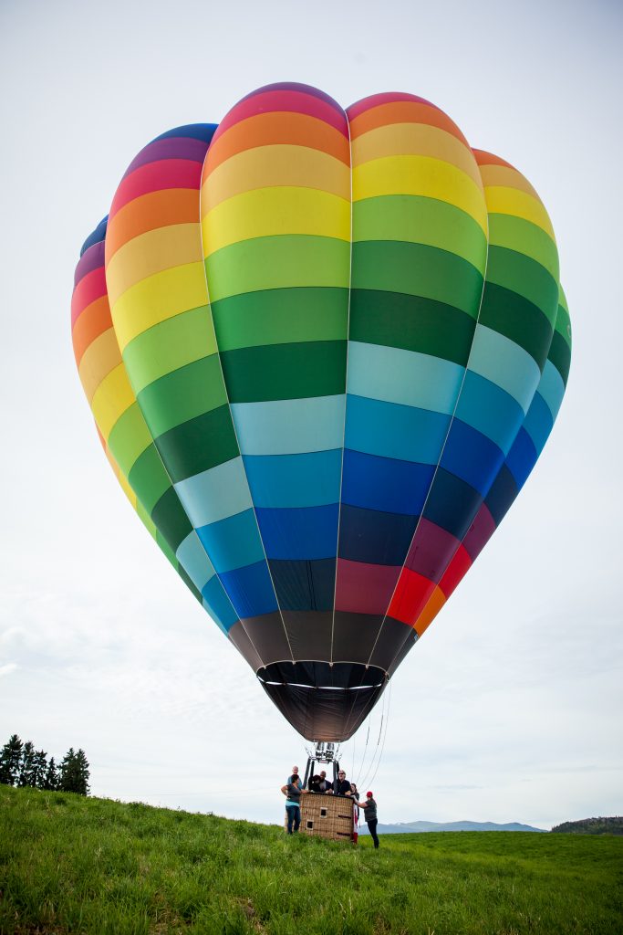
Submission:
[[[174,266],[137,282],[120,296],[112,308],[120,352],[123,353],[133,338],[154,324],[204,305],[207,305],[207,290],[203,263]],[[216,350],[216,340],[213,345]]]

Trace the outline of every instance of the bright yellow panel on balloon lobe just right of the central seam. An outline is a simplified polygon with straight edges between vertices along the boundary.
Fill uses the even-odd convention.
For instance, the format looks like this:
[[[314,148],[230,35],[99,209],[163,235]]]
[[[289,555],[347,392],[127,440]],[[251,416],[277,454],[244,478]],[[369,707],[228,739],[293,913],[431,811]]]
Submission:
[[[418,194],[455,205],[487,234],[485,198],[456,165],[429,156],[387,156],[353,168],[353,201],[379,194]]]

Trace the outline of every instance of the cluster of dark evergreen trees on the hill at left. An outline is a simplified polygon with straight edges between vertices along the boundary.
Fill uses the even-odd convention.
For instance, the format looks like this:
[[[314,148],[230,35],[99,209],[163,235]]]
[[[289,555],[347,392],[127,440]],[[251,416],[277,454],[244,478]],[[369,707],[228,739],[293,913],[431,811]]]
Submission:
[[[17,734],[9,737],[0,753],[0,783],[30,785],[51,792],[78,792],[89,795],[89,760],[84,750],[70,747],[60,763],[48,759],[45,750],[35,750],[31,741],[23,743]]]

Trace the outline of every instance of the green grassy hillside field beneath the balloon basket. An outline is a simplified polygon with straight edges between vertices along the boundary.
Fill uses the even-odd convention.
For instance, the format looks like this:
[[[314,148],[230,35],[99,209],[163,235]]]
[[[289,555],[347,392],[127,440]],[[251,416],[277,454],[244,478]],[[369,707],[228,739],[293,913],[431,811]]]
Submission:
[[[623,932],[623,838],[462,832],[371,845],[0,785],[0,933]]]

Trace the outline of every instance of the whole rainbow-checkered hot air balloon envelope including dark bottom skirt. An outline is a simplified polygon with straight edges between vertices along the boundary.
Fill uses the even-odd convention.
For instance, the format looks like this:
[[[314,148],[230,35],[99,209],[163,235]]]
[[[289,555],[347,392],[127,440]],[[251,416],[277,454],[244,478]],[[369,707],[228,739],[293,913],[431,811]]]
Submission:
[[[539,196],[423,98],[274,84],[140,151],[75,282],[121,487],[290,724],[346,740],[558,414]]]

